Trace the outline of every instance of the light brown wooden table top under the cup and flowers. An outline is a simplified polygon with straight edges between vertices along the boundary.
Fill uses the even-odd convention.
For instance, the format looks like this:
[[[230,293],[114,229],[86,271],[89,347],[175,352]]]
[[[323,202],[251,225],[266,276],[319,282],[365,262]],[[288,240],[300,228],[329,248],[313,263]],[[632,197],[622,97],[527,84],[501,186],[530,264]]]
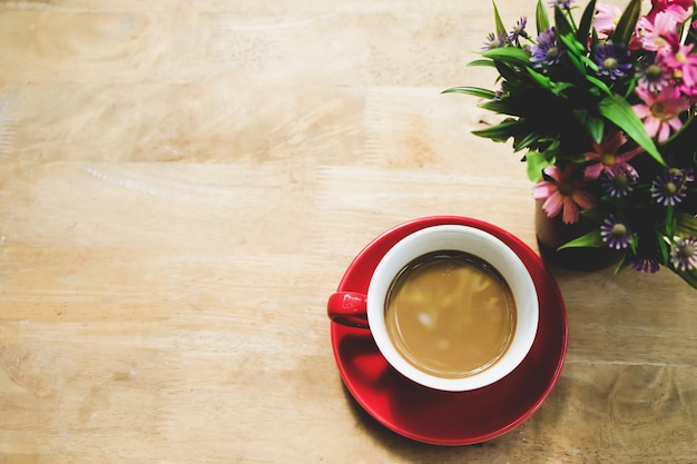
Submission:
[[[562,375],[484,444],[342,386],[326,299],[373,237],[452,214],[537,246],[519,155],[440,93],[492,85],[464,67],[491,29],[490,2],[0,2],[0,463],[697,461],[697,294],[666,270],[553,268]]]

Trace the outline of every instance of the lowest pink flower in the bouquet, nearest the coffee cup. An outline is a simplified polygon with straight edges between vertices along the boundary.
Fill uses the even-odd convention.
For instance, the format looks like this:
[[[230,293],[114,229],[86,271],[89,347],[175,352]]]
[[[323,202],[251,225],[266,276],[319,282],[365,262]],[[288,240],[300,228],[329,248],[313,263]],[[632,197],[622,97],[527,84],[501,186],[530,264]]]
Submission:
[[[596,200],[591,194],[583,190],[583,181],[573,172],[573,165],[568,164],[563,170],[556,165],[544,168],[544,174],[551,180],[542,180],[532,188],[534,199],[543,199],[542,209],[548,217],[554,217],[562,211],[561,220],[565,224],[578,223],[579,206],[583,209],[592,208]]]

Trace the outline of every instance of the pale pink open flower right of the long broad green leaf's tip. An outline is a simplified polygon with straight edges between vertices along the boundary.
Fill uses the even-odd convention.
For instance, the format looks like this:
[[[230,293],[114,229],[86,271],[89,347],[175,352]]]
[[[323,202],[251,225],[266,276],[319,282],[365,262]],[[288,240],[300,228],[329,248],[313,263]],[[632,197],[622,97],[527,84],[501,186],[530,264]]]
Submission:
[[[658,137],[658,141],[665,141],[670,136],[670,129],[679,130],[683,127],[678,115],[689,108],[689,101],[675,89],[664,87],[656,93],[646,87],[637,87],[635,91],[644,103],[637,103],[632,108],[644,120],[644,128],[650,137]]]

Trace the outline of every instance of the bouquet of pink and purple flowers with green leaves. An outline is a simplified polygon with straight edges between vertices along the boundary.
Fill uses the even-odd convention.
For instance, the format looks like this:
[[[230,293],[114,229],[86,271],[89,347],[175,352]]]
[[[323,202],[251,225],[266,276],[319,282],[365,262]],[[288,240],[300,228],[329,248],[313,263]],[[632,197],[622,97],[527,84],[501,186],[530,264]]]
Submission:
[[[592,225],[560,248],[620,250],[617,272],[664,266],[697,288],[697,13],[693,0],[651,4],[538,0],[533,37],[494,3],[495,32],[470,66],[495,68],[500,87],[445,92],[503,115],[473,134],[524,151],[547,216]]]

